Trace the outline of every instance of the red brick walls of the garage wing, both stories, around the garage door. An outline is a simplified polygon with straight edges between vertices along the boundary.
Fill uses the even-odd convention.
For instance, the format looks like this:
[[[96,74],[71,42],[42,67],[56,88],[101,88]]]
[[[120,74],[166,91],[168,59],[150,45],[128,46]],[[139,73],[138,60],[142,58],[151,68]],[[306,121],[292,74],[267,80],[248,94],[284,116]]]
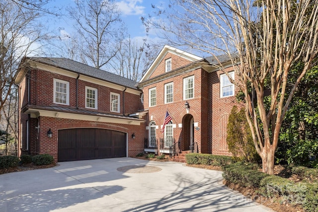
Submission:
[[[27,77],[25,77],[20,83],[19,87],[19,99],[20,99],[20,107],[29,105],[54,105],[53,103],[53,86],[54,86],[54,78],[62,79],[65,81],[69,81],[70,83],[70,105],[61,105],[64,107],[76,107],[76,79],[56,73],[51,73],[48,71],[33,69],[30,71],[30,102],[27,101]],[[112,113],[110,112],[110,92],[120,94],[120,113],[113,114],[129,114],[135,113],[143,108],[143,105],[140,101],[140,95],[132,94],[123,91],[116,90],[113,88],[93,84],[90,82],[86,82],[83,80],[79,80],[79,108],[85,109],[85,86],[97,88],[97,102],[98,102],[98,111]],[[125,104],[123,104],[123,95],[125,95]],[[57,105],[57,104],[56,104]],[[125,110],[124,110],[125,107]],[[87,110],[87,109],[86,109]],[[94,109],[90,109],[94,110]],[[26,121],[29,120],[29,149],[26,149]],[[42,153],[50,153],[57,160],[57,135],[59,128],[58,125],[62,126],[63,124],[75,124],[80,125],[83,123],[88,123],[93,125],[98,125],[100,128],[105,128],[105,123],[94,123],[87,121],[79,121],[79,120],[71,120],[71,119],[61,119],[61,118],[50,118],[50,117],[39,117],[39,118],[30,118],[28,114],[21,113],[20,108],[20,138],[23,141],[21,148],[21,153],[31,153],[31,154],[42,154]],[[22,128],[21,128],[22,124]],[[39,134],[37,133],[36,127],[40,125]],[[120,125],[120,124],[110,124],[111,126],[123,127],[126,130],[125,133],[128,133],[129,138],[129,156],[135,156],[136,154],[143,152],[144,150],[144,131],[145,126],[142,124],[141,126],[137,125]],[[107,125],[107,127],[109,127]],[[47,137],[47,131],[51,128],[53,132],[53,138],[49,139]],[[74,126],[76,128],[76,126]],[[118,130],[118,129],[117,129]],[[131,134],[135,133],[136,139],[131,139]],[[20,141],[19,141],[20,143]]]

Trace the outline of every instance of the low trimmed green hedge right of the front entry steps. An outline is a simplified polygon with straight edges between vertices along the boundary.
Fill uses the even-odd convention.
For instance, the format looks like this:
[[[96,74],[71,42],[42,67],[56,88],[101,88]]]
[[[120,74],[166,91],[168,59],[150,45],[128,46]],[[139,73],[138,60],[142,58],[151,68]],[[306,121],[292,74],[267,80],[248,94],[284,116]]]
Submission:
[[[189,153],[185,155],[187,164],[201,164],[208,166],[225,166],[236,162],[233,157],[224,155]]]

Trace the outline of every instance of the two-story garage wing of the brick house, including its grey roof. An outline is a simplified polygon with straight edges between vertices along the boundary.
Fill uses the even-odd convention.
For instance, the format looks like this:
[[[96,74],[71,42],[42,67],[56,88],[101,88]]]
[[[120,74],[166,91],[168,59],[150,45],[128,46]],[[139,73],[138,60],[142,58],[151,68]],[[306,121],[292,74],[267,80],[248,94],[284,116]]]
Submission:
[[[15,83],[19,154],[69,161],[143,150],[145,118],[127,115],[143,110],[135,81],[65,58],[25,58]]]

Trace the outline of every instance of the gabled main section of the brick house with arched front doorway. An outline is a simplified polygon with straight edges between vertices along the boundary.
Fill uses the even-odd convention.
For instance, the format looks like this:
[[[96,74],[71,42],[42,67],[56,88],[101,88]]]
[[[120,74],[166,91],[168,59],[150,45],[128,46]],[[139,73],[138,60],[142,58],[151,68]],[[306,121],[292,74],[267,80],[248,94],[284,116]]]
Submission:
[[[239,88],[213,67],[218,61],[235,77],[226,56],[203,59],[164,46],[138,84],[148,111],[145,151],[167,153],[172,146],[176,153],[230,155],[227,123]],[[166,112],[172,119],[162,131]]]

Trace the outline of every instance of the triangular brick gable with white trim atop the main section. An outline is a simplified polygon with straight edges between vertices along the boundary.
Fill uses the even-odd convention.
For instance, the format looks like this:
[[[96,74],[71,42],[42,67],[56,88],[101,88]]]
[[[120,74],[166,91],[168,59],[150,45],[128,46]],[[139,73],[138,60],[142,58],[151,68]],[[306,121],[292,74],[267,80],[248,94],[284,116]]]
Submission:
[[[203,58],[165,45],[139,83],[165,73],[165,60],[171,58],[171,70],[178,69]]]

